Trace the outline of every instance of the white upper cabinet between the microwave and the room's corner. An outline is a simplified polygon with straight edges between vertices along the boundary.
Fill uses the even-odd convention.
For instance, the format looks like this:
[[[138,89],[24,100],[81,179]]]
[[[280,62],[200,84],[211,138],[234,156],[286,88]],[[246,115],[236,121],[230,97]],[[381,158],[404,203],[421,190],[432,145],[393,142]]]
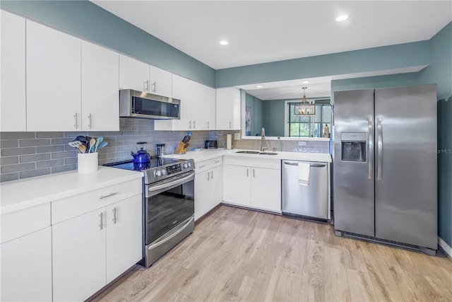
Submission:
[[[181,100],[181,118],[155,120],[155,130],[215,129],[215,89],[173,74],[172,96]]]

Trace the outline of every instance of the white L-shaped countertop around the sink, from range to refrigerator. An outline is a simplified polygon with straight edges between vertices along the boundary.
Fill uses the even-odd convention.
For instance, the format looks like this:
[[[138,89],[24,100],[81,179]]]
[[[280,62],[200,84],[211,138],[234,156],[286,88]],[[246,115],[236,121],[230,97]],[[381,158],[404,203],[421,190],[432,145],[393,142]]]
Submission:
[[[275,151],[276,155],[263,155],[263,154],[247,154],[236,153],[242,151],[242,149],[202,149],[201,151],[188,151],[185,154],[168,154],[163,157],[167,158],[192,158],[195,163],[200,161],[207,161],[218,156],[237,156],[248,158],[268,158],[268,159],[289,159],[292,161],[321,161],[323,163],[331,163],[331,155],[329,153],[302,153],[302,152],[286,152]]]

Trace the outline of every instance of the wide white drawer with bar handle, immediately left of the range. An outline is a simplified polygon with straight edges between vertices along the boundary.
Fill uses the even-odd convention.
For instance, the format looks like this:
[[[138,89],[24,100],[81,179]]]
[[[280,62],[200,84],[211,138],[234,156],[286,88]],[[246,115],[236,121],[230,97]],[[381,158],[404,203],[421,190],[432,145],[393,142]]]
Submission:
[[[52,225],[141,193],[140,179],[57,200],[52,202]]]

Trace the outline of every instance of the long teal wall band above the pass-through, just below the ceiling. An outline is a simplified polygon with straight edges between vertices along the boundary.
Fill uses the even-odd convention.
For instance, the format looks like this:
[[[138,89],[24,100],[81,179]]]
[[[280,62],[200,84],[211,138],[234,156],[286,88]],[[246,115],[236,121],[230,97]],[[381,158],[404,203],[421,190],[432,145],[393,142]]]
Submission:
[[[428,64],[429,42],[421,41],[219,69],[215,71],[215,85],[216,87],[228,87],[316,76],[387,71]]]

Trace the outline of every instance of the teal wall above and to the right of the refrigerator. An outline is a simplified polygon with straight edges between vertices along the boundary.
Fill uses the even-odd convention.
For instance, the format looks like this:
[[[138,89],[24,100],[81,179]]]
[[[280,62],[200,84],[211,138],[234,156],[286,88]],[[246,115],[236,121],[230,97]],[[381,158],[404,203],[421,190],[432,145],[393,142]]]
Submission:
[[[417,73],[331,81],[332,91],[437,84],[438,235],[452,246],[452,22],[429,40],[429,66]]]

